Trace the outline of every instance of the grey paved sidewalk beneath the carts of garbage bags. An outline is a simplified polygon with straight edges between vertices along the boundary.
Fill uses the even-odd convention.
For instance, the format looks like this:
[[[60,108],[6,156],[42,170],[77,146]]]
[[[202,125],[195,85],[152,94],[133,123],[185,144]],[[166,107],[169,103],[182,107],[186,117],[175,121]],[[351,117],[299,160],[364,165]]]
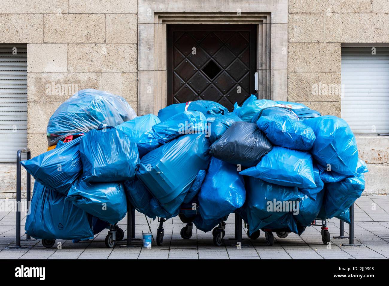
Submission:
[[[25,216],[22,230],[24,232]],[[27,249],[9,249],[15,245],[15,212],[0,212],[0,259],[388,259],[389,258],[389,196],[361,197],[355,205],[355,242],[361,246],[342,246],[348,240],[333,239],[339,235],[339,220],[329,220],[331,242],[322,244],[320,227],[307,227],[299,237],[290,233],[285,239],[275,236],[273,246],[266,246],[265,235],[257,240],[248,239],[245,229],[241,249],[235,246],[216,247],[212,242],[212,233],[204,233],[193,229],[189,240],[180,237],[180,229],[184,226],[178,217],[164,223],[165,236],[163,246],[153,244],[152,249],[141,247],[140,241],[135,241],[137,247],[121,247],[125,241],[119,242],[114,248],[106,248],[104,239],[107,231],[99,233],[93,240],[72,243],[71,240],[57,240],[62,249],[45,248],[40,240],[22,242]],[[142,237],[142,230],[149,228],[145,216],[136,214],[136,237]],[[230,215],[226,224],[225,239],[233,237],[234,216]],[[119,226],[126,232],[126,218]],[[156,234],[157,221],[152,221],[151,230]],[[242,225],[243,227],[244,225]],[[345,232],[348,233],[345,224]],[[25,235],[24,235],[25,237]]]

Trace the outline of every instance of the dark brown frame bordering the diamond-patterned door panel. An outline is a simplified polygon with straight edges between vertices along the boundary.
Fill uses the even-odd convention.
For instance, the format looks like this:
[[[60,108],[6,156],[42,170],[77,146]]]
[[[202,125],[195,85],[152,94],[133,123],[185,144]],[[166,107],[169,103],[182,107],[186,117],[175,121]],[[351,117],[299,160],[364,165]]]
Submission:
[[[255,24],[219,24],[219,25],[207,25],[207,24],[168,24],[166,25],[166,67],[167,67],[167,81],[166,81],[166,104],[171,105],[173,104],[173,97],[171,94],[173,92],[173,74],[170,72],[174,65],[174,56],[173,56],[173,35],[171,33],[177,32],[178,30],[182,30],[185,32],[188,31],[208,31],[208,30],[218,30],[220,31],[249,31],[251,32],[251,35],[257,35],[258,34],[258,25]],[[171,37],[170,37],[171,35]],[[254,89],[254,73],[257,70],[258,66],[258,57],[257,57],[257,37],[250,37],[249,39],[249,45],[250,45],[250,61],[252,60],[252,57],[254,57],[254,64],[250,63],[250,74],[251,77],[249,78],[249,85],[250,85],[250,94],[256,94],[257,91]],[[234,104],[235,102],[232,102]]]

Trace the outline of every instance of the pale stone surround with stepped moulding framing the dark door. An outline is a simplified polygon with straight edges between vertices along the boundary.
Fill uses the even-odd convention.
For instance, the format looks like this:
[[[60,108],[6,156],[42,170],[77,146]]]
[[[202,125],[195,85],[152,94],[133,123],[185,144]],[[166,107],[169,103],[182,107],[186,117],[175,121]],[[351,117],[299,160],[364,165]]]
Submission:
[[[139,0],[139,115],[166,107],[168,24],[257,24],[258,97],[287,99],[287,0]]]

